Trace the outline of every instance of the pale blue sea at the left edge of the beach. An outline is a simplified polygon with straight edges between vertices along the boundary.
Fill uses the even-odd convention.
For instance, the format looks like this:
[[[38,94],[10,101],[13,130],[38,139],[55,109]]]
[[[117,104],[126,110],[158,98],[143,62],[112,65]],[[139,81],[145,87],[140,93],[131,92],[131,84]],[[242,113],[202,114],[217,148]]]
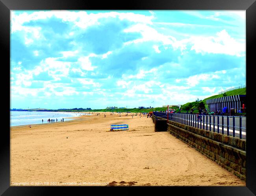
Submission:
[[[10,111],[10,127],[19,126],[19,125],[32,125],[32,124],[43,124],[48,123],[47,120],[58,119],[58,122],[61,122],[61,119],[64,118],[65,121],[74,120],[73,118],[81,115],[91,115],[88,113],[73,113],[73,112],[39,112],[39,111]]]

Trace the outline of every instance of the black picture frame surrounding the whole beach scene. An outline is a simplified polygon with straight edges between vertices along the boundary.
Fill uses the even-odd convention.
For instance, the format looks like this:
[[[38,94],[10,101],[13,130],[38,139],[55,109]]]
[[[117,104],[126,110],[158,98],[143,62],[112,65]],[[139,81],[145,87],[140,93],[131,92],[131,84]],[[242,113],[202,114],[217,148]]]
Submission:
[[[256,151],[255,130],[253,129],[254,114],[254,78],[253,67],[255,63],[254,47],[256,47],[256,2],[255,0],[140,0],[127,2],[109,1],[81,1],[81,0],[0,0],[0,50],[2,68],[7,72],[10,64],[10,10],[246,10],[246,85],[247,85],[247,181],[246,187],[10,187],[10,134],[7,131],[10,105],[10,85],[7,73],[2,73],[2,93],[5,101],[2,102],[4,115],[7,120],[2,123],[1,149],[0,149],[0,194],[2,195],[46,195],[56,191],[65,193],[84,189],[93,189],[103,194],[128,194],[129,192],[157,194],[168,191],[169,194],[188,195],[225,195],[225,196],[250,196],[256,195]],[[5,63],[4,63],[5,62]],[[9,83],[10,84],[10,83]],[[253,102],[254,101],[254,102]],[[7,114],[5,114],[5,112]],[[9,129],[9,128],[8,128]],[[167,193],[168,193],[167,192]]]

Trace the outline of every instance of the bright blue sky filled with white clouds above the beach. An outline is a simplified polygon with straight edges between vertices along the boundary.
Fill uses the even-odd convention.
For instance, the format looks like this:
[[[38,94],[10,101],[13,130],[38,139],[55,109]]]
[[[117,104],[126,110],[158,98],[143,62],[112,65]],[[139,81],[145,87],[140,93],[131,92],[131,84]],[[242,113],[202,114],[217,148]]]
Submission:
[[[245,85],[245,11],[11,11],[11,108],[161,107]]]

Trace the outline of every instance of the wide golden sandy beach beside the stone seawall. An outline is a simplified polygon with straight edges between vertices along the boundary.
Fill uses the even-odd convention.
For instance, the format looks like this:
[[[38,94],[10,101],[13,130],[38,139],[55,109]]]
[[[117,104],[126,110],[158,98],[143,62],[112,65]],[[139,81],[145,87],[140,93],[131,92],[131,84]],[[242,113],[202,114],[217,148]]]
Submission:
[[[129,131],[110,132],[111,123]],[[11,127],[10,144],[11,186],[246,186],[143,115]]]

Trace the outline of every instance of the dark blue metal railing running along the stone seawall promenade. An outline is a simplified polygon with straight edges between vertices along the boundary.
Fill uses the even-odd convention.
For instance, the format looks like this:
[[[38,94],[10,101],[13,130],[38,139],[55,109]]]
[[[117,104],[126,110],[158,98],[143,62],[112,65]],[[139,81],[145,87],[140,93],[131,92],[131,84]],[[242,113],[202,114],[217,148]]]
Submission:
[[[167,119],[167,113],[154,112],[156,118]],[[169,120],[197,127],[207,131],[232,135],[240,139],[246,139],[246,117],[245,116],[219,116],[198,115],[187,113],[169,113]]]

